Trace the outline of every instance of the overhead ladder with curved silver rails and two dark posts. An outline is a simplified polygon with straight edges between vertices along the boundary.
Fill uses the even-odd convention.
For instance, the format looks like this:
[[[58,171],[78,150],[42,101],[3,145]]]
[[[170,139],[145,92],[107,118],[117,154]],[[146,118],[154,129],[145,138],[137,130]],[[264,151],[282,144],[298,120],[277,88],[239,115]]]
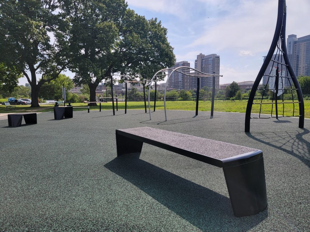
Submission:
[[[158,74],[161,72],[168,72],[170,71],[169,74]],[[194,71],[194,72],[190,72],[190,71]],[[197,69],[191,68],[191,67],[187,67],[187,66],[181,66],[181,67],[177,67],[177,68],[164,68],[159,70],[157,73],[155,73],[155,75],[153,76],[153,78],[150,81],[150,87],[152,84],[152,81],[154,78],[158,77],[158,76],[166,76],[168,75],[166,84],[165,84],[165,92],[164,92],[164,108],[165,108],[165,119],[167,121],[167,109],[166,109],[166,91],[167,91],[167,84],[169,81],[170,76],[172,75],[172,73],[174,72],[179,72],[182,73],[184,75],[187,76],[191,76],[191,77],[197,77],[197,94],[196,94],[196,115],[198,115],[198,104],[199,104],[199,82],[200,82],[200,78],[202,77],[213,77],[213,83],[212,83],[212,101],[211,101],[211,116],[213,116],[213,110],[214,110],[214,96],[215,96],[215,77],[216,76],[223,76],[223,75],[217,75],[215,74],[215,71],[213,71],[213,74],[209,74],[209,73],[204,73],[201,72]],[[156,82],[155,82],[156,83]],[[155,85],[156,86],[156,85]],[[148,111],[150,114],[150,120],[152,120],[152,116],[151,116],[151,107],[150,107],[150,91],[151,88],[148,88]],[[156,93],[156,92],[155,92]],[[155,111],[155,109],[154,109]]]

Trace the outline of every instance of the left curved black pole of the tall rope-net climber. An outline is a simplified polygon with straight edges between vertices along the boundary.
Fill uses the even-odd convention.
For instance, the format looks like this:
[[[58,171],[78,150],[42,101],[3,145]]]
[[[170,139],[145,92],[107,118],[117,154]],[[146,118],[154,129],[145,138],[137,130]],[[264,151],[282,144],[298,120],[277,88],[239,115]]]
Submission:
[[[259,70],[259,73],[255,79],[255,82],[253,84],[252,90],[250,92],[248,104],[246,106],[246,118],[245,118],[245,126],[244,126],[244,131],[249,132],[250,131],[250,119],[251,119],[251,110],[252,110],[252,105],[255,97],[256,90],[258,88],[260,80],[263,78],[263,75],[265,73],[266,68],[268,67],[268,64],[272,58],[272,55],[277,47],[278,39],[281,35],[281,27],[283,23],[283,13],[284,13],[284,6],[285,6],[285,0],[279,0],[279,5],[278,5],[278,16],[277,16],[277,25],[276,29],[274,32],[274,36],[271,42],[271,46],[269,48],[268,54],[266,56],[265,61],[263,62],[262,67]],[[287,56],[287,54],[284,54],[284,57]]]

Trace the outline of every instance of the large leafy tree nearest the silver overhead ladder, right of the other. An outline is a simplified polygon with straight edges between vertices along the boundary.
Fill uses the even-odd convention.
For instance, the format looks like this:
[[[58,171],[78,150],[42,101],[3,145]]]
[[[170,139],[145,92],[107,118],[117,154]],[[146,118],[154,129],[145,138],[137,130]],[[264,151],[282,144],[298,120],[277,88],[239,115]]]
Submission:
[[[124,0],[68,0],[63,11],[71,21],[69,69],[75,83],[88,84],[90,101],[102,80],[109,83],[111,72],[149,78],[175,63],[166,28],[127,9]]]

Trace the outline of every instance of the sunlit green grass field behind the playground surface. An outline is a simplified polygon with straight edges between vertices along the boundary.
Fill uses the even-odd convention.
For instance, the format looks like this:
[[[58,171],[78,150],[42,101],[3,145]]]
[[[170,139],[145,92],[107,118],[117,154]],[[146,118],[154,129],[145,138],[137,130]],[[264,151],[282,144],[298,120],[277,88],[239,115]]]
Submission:
[[[263,103],[269,103],[271,101],[264,100]],[[291,101],[286,101],[291,102]],[[255,101],[256,104],[252,107],[252,113],[259,113],[260,110],[260,101]],[[195,110],[196,109],[196,102],[194,101],[167,101],[167,110]],[[246,112],[246,104],[247,100],[243,101],[215,101],[214,104],[214,111],[221,111],[221,112],[240,112],[245,113]],[[75,107],[81,107],[81,106],[87,106],[86,103],[73,103],[72,104]],[[292,116],[293,115],[293,104],[287,103],[284,104],[285,116]],[[298,104],[294,104],[294,114],[299,114],[299,106]],[[17,112],[47,112],[47,111],[53,111],[53,104],[51,105],[42,105],[38,108],[31,108],[30,105],[24,106],[24,105],[17,105],[16,110],[6,110],[5,105],[0,106],[0,113],[17,113]],[[305,118],[310,118],[310,100],[304,101],[305,106]],[[270,114],[271,113],[272,104],[264,104],[262,105],[261,113],[262,114]],[[98,106],[91,106],[91,110],[99,110],[99,104]],[[108,103],[102,103],[101,104],[102,110],[112,110],[112,102]],[[118,109],[124,110],[125,109],[125,102],[119,102],[118,103]],[[144,109],[144,102],[127,102],[127,109],[135,109],[135,110],[143,110]],[[151,109],[153,109],[153,102],[151,102]],[[156,109],[157,110],[164,110],[164,102],[163,101],[157,101],[156,102]],[[87,110],[87,108],[74,108],[74,111],[76,110]],[[211,102],[210,101],[199,101],[199,111],[210,111],[211,110]],[[273,114],[275,114],[275,106],[273,105]],[[278,114],[282,115],[283,113],[283,104],[278,104]]]

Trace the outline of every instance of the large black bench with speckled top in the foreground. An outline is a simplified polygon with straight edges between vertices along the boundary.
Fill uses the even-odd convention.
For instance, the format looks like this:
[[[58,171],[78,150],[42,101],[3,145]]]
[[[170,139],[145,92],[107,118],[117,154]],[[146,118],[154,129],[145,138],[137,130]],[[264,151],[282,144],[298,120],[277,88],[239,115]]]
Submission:
[[[151,127],[116,130],[117,156],[141,152],[143,143],[222,167],[236,217],[254,215],[267,207],[261,150]]]

